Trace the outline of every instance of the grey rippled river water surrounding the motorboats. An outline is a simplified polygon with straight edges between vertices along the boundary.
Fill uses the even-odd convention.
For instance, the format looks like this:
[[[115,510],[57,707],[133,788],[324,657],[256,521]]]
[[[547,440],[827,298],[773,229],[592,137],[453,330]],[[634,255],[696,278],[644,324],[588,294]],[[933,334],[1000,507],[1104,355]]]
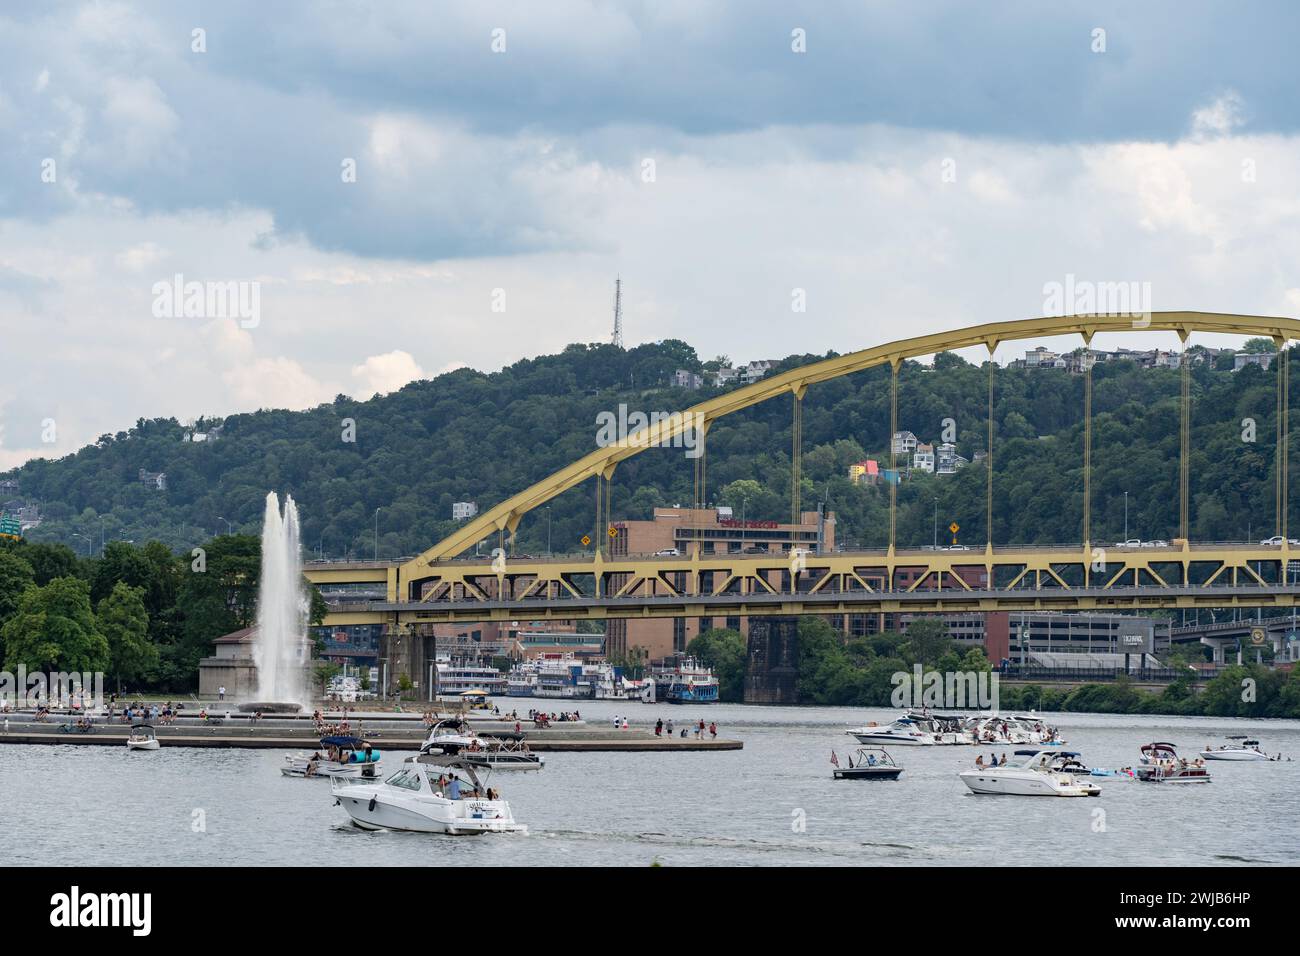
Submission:
[[[532,701],[512,705],[534,706]],[[547,709],[558,701],[543,701]],[[556,708],[558,709],[558,708]],[[1186,756],[1248,734],[1295,762],[1213,762],[1208,786],[1095,778],[1098,799],[974,796],[957,778],[998,748],[897,748],[897,782],[833,780],[844,730],[896,711],[584,701],[582,717],[633,724],[716,721],[745,749],[549,753],[500,773],[529,834],[367,832],[329,783],[285,778],[282,750],[0,747],[0,835],[9,864],[57,865],[1295,865],[1300,722],[1050,714],[1096,767],[1138,762],[1150,740]],[[1006,748],[1010,749],[1010,748]],[[399,754],[385,757],[394,770]]]

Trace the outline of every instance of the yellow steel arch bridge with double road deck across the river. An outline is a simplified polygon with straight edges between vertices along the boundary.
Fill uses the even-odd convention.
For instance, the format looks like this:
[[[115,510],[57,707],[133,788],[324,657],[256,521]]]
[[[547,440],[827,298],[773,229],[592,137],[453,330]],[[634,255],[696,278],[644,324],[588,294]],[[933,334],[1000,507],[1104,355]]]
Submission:
[[[897,483],[889,483],[889,545],[880,550],[818,554],[707,554],[692,542],[681,555],[611,557],[602,541],[581,558],[516,558],[511,545],[520,519],[555,496],[595,483],[595,527],[610,527],[608,488],[619,463],[660,447],[692,429],[703,446],[696,459],[696,501],[706,501],[708,425],[781,395],[793,397],[792,502],[798,523],[801,408],[811,385],[889,365],[890,434],[898,431],[898,369],[909,358],[1062,334],[1091,343],[1097,333],[1165,330],[1186,343],[1193,332],[1262,336],[1278,345],[1275,544],[1197,544],[1188,540],[1190,364],[1182,363],[1179,537],[1162,546],[1097,546],[1091,541],[1092,371],[1084,371],[1083,524],[1080,544],[1065,548],[911,550],[896,548]],[[602,447],[467,522],[425,553],[400,562],[315,563],[317,585],[354,585],[363,600],[334,602],[328,624],[393,628],[447,622],[526,618],[604,619],[664,617],[763,617],[892,611],[1088,610],[1231,607],[1296,604],[1290,583],[1300,542],[1287,535],[1288,360],[1284,346],[1300,339],[1294,319],[1154,312],[1132,316],[1063,316],[993,323],[920,336],[816,362],[766,377],[653,423],[627,441]],[[994,363],[988,368],[987,523],[993,528],[992,458]],[[890,442],[890,467],[897,468]],[[495,536],[493,558],[462,553]],[[597,536],[599,538],[599,536]],[[1297,563],[1295,567],[1300,567]],[[971,581],[978,581],[972,584]],[[359,585],[359,587],[358,587]]]

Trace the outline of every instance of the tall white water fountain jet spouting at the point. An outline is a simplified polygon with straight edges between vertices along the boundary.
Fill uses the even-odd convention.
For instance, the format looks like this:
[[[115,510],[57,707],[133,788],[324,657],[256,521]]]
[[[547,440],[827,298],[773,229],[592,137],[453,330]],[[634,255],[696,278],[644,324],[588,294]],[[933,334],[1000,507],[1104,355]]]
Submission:
[[[266,496],[261,525],[261,580],[257,584],[257,700],[243,711],[298,713],[307,704],[308,602],[303,591],[303,559],[298,542],[298,506],[285,496],[285,510],[274,492]]]

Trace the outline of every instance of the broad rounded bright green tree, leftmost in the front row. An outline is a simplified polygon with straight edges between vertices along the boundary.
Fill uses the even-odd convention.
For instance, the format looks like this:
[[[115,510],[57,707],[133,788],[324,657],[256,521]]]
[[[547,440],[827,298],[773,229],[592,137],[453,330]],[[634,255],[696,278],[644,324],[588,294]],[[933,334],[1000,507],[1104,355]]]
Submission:
[[[108,640],[99,632],[90,606],[90,584],[56,578],[27,588],[18,610],[0,630],[9,667],[29,671],[105,671]]]

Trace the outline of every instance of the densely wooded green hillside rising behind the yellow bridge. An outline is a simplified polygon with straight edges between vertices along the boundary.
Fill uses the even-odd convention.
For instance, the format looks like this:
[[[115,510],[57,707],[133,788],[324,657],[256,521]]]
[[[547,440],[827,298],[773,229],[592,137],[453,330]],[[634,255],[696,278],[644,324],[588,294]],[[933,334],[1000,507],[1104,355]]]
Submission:
[[[792,356],[776,371],[818,358]],[[3,477],[17,479],[20,488],[4,497],[39,503],[44,520],[30,532],[32,540],[81,545],[82,553],[98,548],[101,533],[188,549],[225,532],[226,520],[256,532],[263,499],[277,490],[298,499],[311,553],[369,557],[380,509],[380,557],[415,554],[454,527],[454,501],[490,507],[590,451],[602,412],[616,412],[620,403],[673,411],[716,394],[670,385],[675,369],[703,364],[680,341],[629,350],[573,345],[500,372],[460,369],[367,402],[341,395],[303,412],[231,415],[220,438],[203,444],[185,441],[188,429],[173,419],[140,420],[74,455],[9,472]],[[1270,535],[1275,372],[1214,365],[1205,362],[1192,372],[1192,535]],[[1122,360],[1098,365],[1093,381],[1093,540],[1119,540],[1124,492],[1131,537],[1174,537],[1179,373]],[[984,540],[985,472],[975,453],[985,450],[987,389],[984,369],[957,355],[904,367],[900,428],[937,442],[944,420],[953,419],[958,451],[972,463],[956,476],[902,483],[901,544],[930,544],[936,518],[940,529],[958,522],[963,541]],[[1296,398],[1292,408],[1300,407]],[[1082,411],[1082,376],[996,371],[997,542],[1079,540]],[[824,501],[838,514],[841,540],[885,540],[887,490],[852,484],[848,466],[868,457],[887,463],[888,433],[885,368],[815,386],[805,398],[802,498],[810,507]],[[788,520],[789,459],[789,398],[720,419],[708,436],[708,498],[737,511],[744,502],[748,518]],[[143,484],[140,470],[165,472],[166,489]],[[688,503],[692,481],[693,462],[681,449],[634,457],[615,475],[612,514],[644,518],[656,505]],[[580,550],[593,520],[593,489],[573,489],[549,512],[525,519],[519,546],[543,550],[550,523],[554,550]]]

